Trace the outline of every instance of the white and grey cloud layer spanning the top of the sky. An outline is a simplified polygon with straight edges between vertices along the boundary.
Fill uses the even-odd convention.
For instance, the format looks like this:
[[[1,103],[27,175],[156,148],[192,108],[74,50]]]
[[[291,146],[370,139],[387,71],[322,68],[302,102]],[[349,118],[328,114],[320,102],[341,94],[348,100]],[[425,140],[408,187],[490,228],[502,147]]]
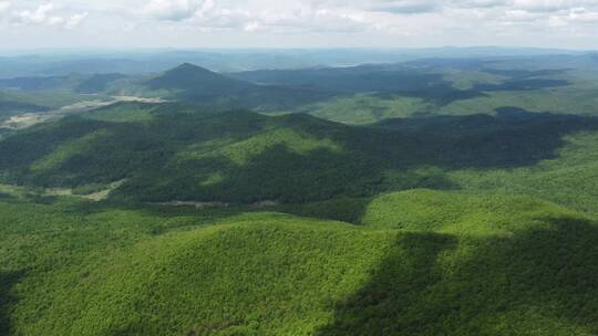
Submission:
[[[413,39],[421,44],[478,36],[480,43],[495,43],[498,35],[520,41],[540,31],[547,41],[555,33],[592,34],[598,29],[598,0],[0,0],[0,30],[1,18],[41,30],[74,29],[90,17],[93,22],[80,31],[97,35],[127,31],[124,35],[148,41],[144,43],[154,43],[156,34],[209,42],[219,33],[230,39],[279,34],[308,44],[319,39],[324,45],[331,33],[348,34],[338,40],[340,44],[359,38],[369,42],[365,36],[384,36],[378,41],[421,36]],[[197,33],[209,34],[204,40]],[[255,40],[256,45],[264,41],[276,38]]]

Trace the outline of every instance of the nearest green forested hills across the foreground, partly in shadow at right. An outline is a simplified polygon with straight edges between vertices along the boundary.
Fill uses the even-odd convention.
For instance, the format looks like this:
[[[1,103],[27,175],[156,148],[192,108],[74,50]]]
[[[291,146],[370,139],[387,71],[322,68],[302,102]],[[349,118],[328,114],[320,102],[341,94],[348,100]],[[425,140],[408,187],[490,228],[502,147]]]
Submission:
[[[597,223],[560,207],[414,190],[364,204],[365,227],[244,211],[4,198],[0,330],[598,330]]]

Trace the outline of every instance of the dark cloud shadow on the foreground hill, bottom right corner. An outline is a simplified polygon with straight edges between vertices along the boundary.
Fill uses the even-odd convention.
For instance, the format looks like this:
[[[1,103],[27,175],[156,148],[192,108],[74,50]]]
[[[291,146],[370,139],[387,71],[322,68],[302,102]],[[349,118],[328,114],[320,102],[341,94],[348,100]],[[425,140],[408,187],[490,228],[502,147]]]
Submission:
[[[400,237],[315,335],[595,335],[598,228],[576,218],[509,238]],[[461,251],[461,252],[457,252]],[[439,259],[447,253],[450,259]]]

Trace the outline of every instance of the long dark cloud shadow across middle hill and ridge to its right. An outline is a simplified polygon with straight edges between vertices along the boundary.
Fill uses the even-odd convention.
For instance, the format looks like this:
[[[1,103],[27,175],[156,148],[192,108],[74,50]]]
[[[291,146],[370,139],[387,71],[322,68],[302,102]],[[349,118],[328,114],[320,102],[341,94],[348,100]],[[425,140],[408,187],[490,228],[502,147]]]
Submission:
[[[116,195],[144,201],[251,204],[367,198],[413,188],[450,190],[458,186],[445,177],[445,170],[533,166],[554,158],[565,145],[564,136],[598,129],[594,118],[513,107],[499,108],[496,116],[391,119],[371,128],[318,123],[309,116],[292,120],[285,119],[285,127],[318,140],[330,139],[343,149],[297,153],[275,141],[243,164],[224,155],[189,158],[176,166],[143,170]]]

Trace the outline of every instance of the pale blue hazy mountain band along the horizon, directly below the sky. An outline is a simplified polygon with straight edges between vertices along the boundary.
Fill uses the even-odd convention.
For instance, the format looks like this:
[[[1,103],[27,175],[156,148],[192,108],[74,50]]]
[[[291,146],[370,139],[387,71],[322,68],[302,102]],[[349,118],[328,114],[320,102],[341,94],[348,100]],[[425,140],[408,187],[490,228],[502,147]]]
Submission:
[[[429,48],[429,49],[269,49],[269,50],[156,50],[156,51],[28,51],[0,56],[0,78],[56,76],[71,73],[118,72],[138,75],[165,71],[177,64],[203,64],[217,71],[348,66],[395,63],[429,57],[511,57],[584,55],[584,52],[549,49]]]

